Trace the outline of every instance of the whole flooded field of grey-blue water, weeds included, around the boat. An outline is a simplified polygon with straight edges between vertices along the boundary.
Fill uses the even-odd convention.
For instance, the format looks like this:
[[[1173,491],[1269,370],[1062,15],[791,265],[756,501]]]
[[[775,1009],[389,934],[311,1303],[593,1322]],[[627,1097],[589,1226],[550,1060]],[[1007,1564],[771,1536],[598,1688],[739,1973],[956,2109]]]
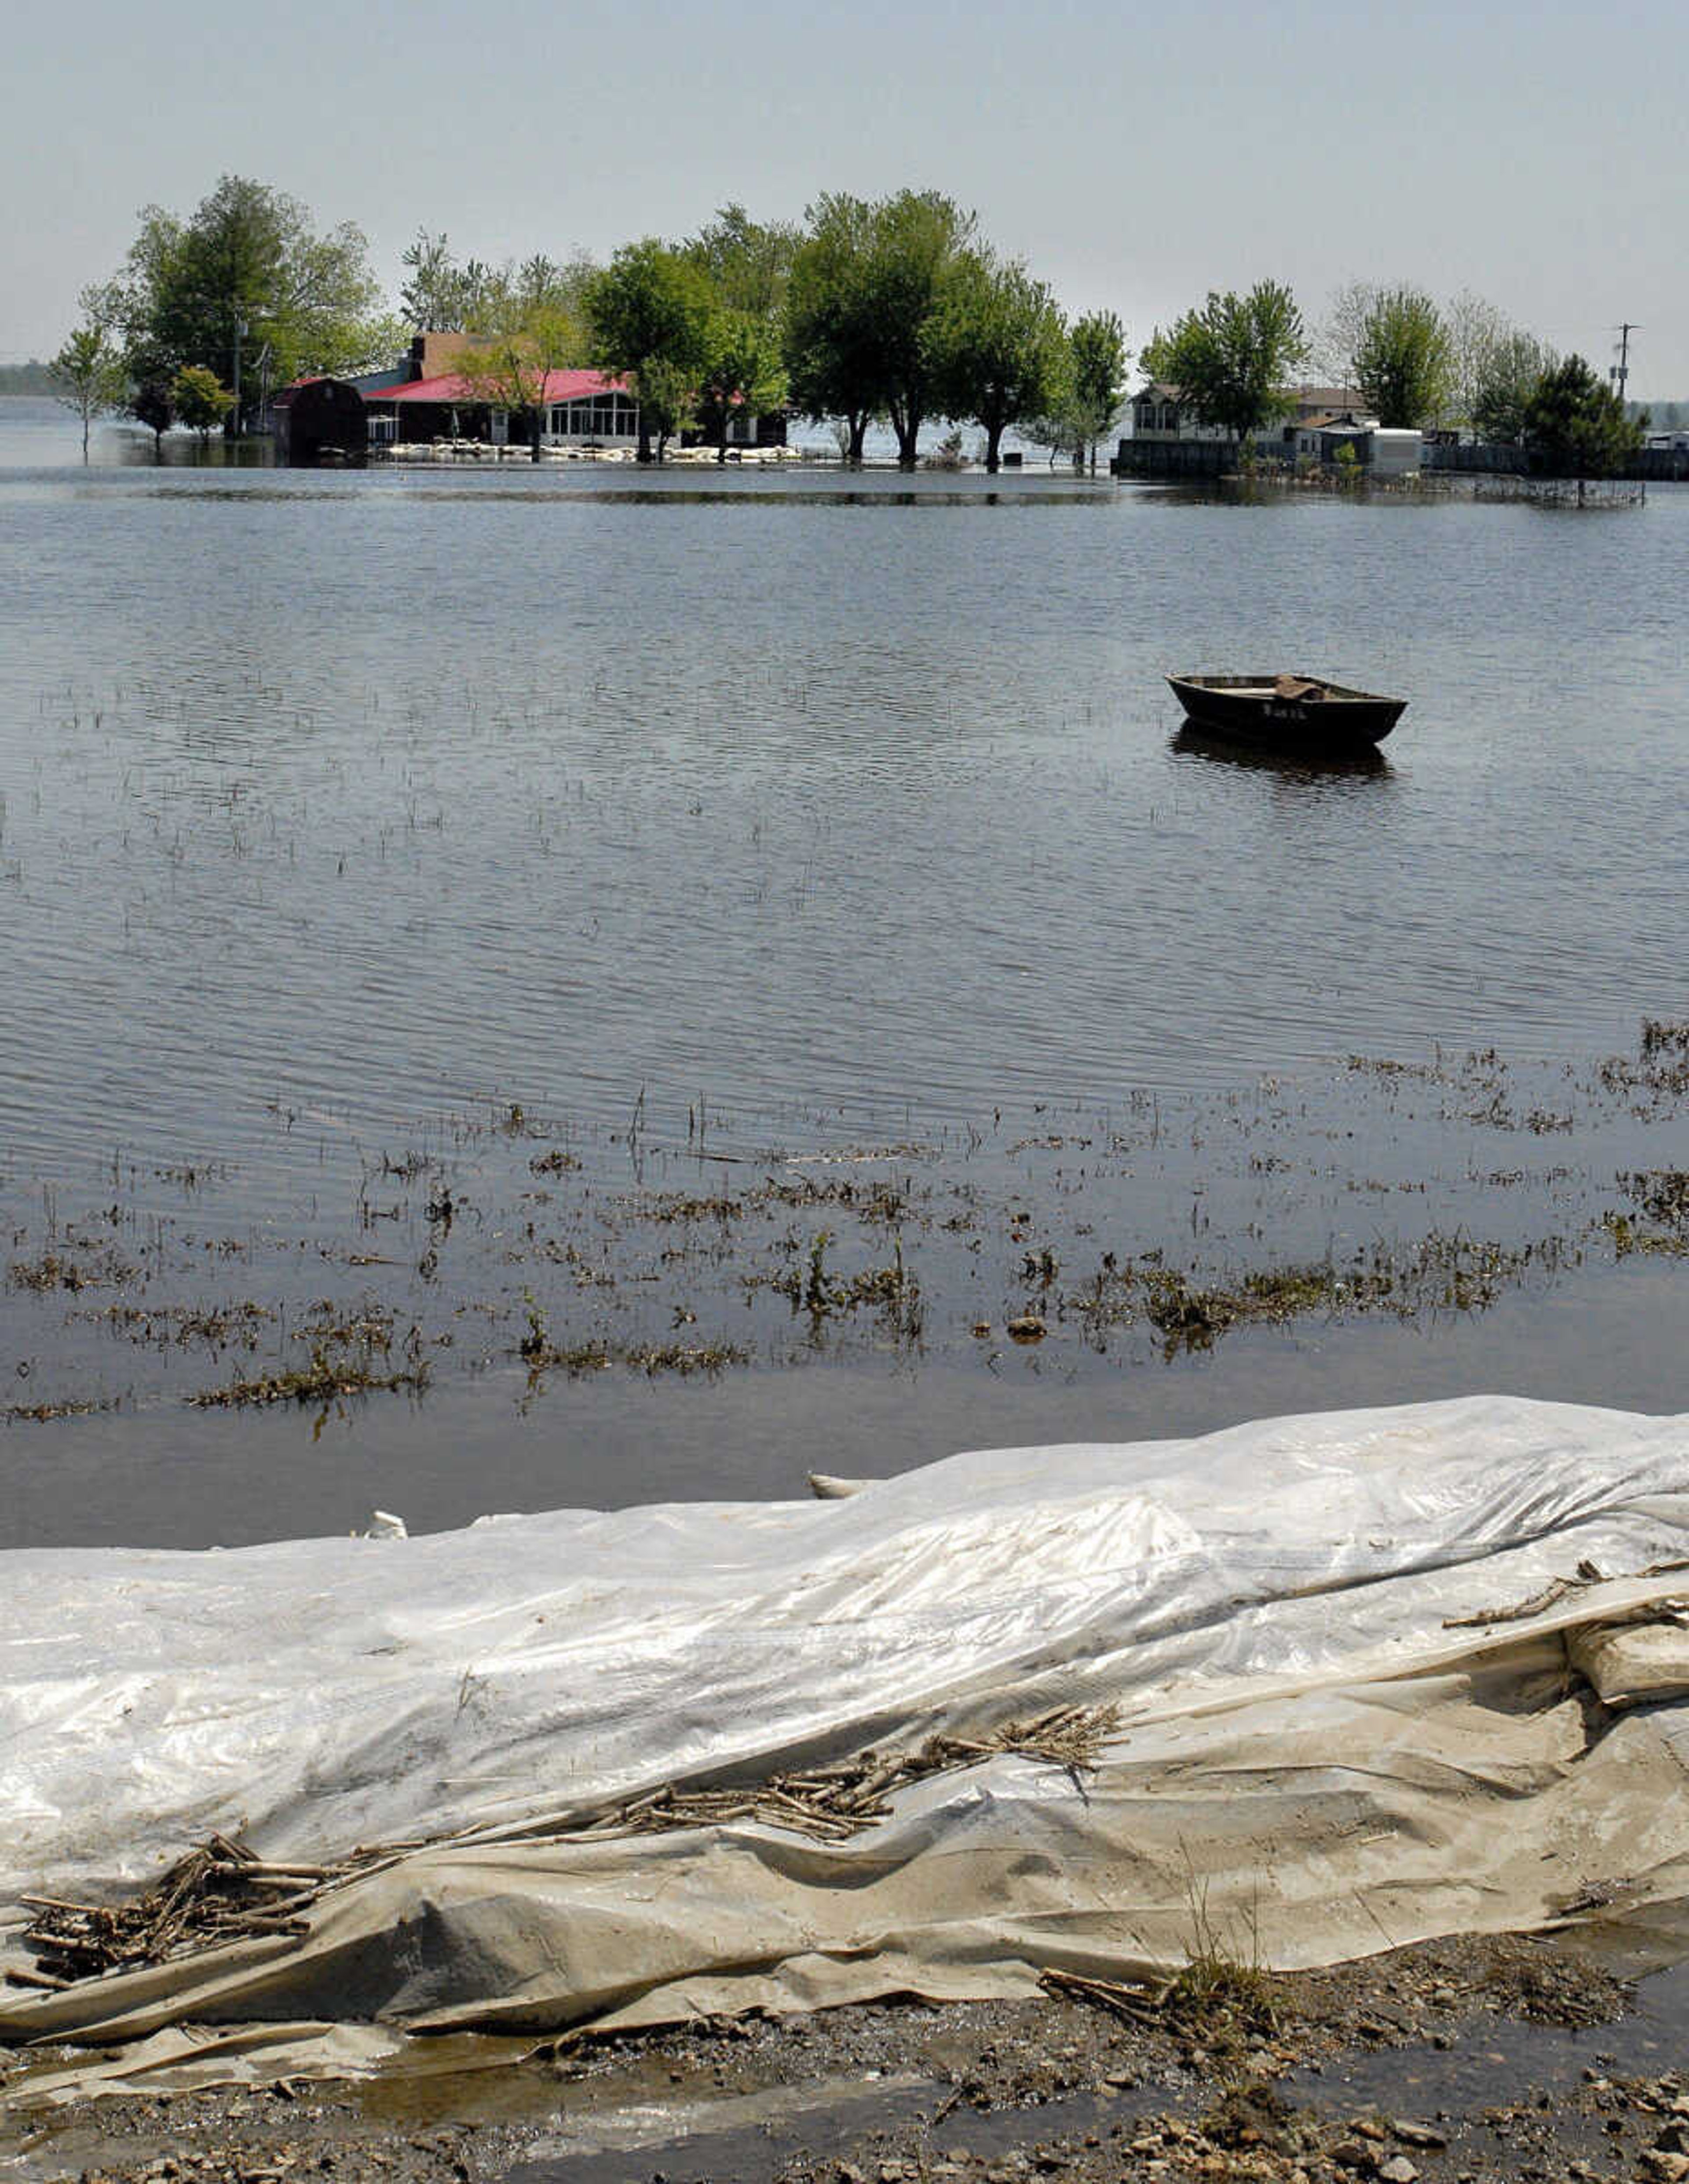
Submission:
[[[4,1544],[1689,1406],[1689,498],[20,446]]]

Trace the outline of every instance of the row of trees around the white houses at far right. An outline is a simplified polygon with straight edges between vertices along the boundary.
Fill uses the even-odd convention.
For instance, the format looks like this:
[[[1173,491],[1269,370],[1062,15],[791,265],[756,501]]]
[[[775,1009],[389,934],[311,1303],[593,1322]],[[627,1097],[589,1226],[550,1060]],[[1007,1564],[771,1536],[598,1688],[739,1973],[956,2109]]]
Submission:
[[[1309,336],[1289,288],[1259,282],[1248,295],[1210,293],[1171,330],[1156,330],[1143,367],[1239,441],[1287,413],[1285,389],[1309,367],[1355,389],[1383,426],[1471,426],[1479,439],[1525,448],[1545,470],[1615,470],[1647,432],[1647,413],[1628,413],[1582,356],[1556,356],[1473,295],[1442,310],[1418,288],[1357,282]]]

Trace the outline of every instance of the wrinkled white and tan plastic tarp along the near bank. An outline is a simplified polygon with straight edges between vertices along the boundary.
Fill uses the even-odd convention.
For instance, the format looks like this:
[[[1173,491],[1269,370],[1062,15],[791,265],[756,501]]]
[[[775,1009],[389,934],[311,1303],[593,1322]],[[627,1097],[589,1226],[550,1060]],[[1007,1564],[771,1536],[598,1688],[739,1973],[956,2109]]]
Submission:
[[[271,1859],[435,1841],[326,1894],[304,1939],[0,1990],[0,2038],[310,2020],[328,2068],[321,2027],[354,2020],[1119,1977],[1182,1961],[1197,1904],[1307,1966],[1680,1896],[1685,1601],[1689,1420],[1519,1398],[988,1450],[832,1503],[11,1553],[0,1907],[151,1876],[212,1828]],[[1119,1708],[1095,1773],[929,1776],[843,1843],[557,1839],[666,1782],[1066,1704]]]

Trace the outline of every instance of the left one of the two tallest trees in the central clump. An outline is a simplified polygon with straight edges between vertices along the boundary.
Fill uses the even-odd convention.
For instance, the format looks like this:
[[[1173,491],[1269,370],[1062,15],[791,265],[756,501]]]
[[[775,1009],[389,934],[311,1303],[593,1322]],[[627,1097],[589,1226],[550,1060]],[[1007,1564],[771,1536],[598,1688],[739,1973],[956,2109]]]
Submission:
[[[870,288],[874,207],[861,197],[830,194],[808,207],[806,221],[787,282],[787,380],[804,417],[843,419],[843,456],[857,465],[867,426],[885,413]]]

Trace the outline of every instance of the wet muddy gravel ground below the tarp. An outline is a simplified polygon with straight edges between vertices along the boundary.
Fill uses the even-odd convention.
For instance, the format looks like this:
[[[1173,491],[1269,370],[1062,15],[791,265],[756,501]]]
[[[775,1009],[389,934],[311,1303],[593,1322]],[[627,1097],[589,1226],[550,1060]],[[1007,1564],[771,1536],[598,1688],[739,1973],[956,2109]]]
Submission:
[[[1554,1944],[1453,1939],[1315,1974],[1208,1968],[1151,2022],[1058,1994],[911,2003],[588,2042],[520,2070],[13,2110],[0,2177],[1674,2180],[1685,1994],[1667,1974],[1639,1996]]]

